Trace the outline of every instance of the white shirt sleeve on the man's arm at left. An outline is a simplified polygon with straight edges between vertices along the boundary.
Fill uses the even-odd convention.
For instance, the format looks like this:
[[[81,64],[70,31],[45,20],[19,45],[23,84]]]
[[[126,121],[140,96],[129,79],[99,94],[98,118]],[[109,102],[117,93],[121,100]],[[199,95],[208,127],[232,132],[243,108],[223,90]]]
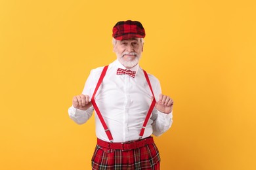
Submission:
[[[89,77],[87,78],[85,82],[85,87],[83,88],[82,94],[84,95],[89,95],[90,101],[91,101],[91,96],[93,95],[93,88],[95,87],[95,71],[92,70]],[[68,115],[72,120],[74,120],[75,123],[77,124],[85,124],[89,118],[93,115],[93,106],[91,106],[87,110],[80,110],[80,109],[75,109],[75,107],[72,105],[68,109]]]

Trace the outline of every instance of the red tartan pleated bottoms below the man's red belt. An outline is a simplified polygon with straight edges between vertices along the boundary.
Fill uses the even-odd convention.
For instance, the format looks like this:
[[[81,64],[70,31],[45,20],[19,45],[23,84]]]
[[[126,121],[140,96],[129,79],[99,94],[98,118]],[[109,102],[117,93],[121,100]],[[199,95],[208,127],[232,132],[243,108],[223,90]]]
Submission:
[[[94,170],[160,169],[160,154],[156,144],[133,150],[104,148],[96,145],[92,158]]]

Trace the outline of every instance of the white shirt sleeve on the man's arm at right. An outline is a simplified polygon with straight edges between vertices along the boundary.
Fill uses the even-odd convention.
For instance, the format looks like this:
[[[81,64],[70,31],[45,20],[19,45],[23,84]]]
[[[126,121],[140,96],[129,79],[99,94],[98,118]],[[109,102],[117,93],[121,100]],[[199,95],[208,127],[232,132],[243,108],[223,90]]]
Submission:
[[[155,82],[156,84],[154,84],[154,95],[156,101],[158,101],[159,95],[161,93],[161,86],[158,79],[156,79]],[[165,133],[165,131],[167,131],[173,124],[173,111],[171,111],[169,114],[165,114],[154,108],[154,110],[152,111],[151,119],[153,120],[153,135],[160,136],[161,134]]]

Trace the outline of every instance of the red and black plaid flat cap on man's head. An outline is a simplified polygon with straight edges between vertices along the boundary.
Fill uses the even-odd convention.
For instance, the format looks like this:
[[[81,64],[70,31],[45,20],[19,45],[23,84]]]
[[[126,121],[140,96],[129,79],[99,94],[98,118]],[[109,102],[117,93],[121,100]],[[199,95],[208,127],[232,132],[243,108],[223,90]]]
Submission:
[[[142,24],[138,21],[120,21],[113,27],[112,36],[114,39],[123,40],[131,38],[144,38],[145,30]]]

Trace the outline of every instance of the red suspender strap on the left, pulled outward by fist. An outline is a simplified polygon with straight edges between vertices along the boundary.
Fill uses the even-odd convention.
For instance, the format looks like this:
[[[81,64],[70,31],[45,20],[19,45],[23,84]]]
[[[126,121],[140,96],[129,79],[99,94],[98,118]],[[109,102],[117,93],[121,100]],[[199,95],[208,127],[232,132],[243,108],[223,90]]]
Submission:
[[[110,140],[110,143],[113,142],[113,137],[110,133],[110,130],[108,129],[108,126],[106,126],[106,123],[100,113],[100,110],[98,109],[98,106],[96,105],[96,102],[95,102],[95,94],[96,92],[98,91],[98,88],[100,87],[100,84],[104,78],[104,76],[106,75],[106,71],[108,69],[108,65],[106,65],[100,75],[100,78],[98,79],[98,83],[96,85],[96,88],[95,88],[95,92],[93,93],[93,96],[91,97],[91,103],[93,104],[93,107],[95,108],[95,111],[96,111],[96,114],[98,115],[98,118],[100,119],[100,122],[102,124],[102,126],[104,127],[104,130],[106,132],[106,135],[108,136],[108,139]]]

